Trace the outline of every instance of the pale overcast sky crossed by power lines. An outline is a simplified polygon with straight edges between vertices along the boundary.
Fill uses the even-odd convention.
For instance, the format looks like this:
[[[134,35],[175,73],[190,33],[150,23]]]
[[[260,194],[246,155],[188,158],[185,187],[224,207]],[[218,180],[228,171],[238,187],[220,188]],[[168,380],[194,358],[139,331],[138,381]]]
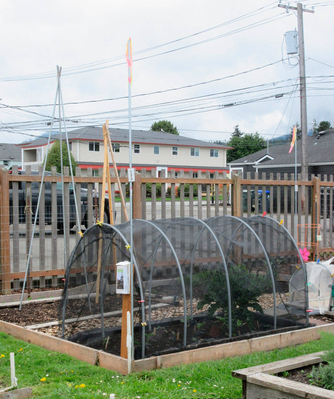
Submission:
[[[155,120],[168,119],[180,134],[202,140],[228,139],[236,124],[243,132],[258,131],[266,139],[286,134],[289,126],[300,123],[298,60],[291,56],[281,61],[282,53],[287,58],[284,33],[297,28],[297,16],[277,4],[270,0],[2,0],[0,103],[42,107],[0,106],[0,141],[22,142],[29,139],[27,134],[48,131],[56,65],[63,67],[65,117],[78,120],[66,122],[68,130],[101,126],[106,118],[109,125],[128,128],[129,37],[134,53],[133,129],[148,130]],[[334,1],[302,4],[307,9],[314,6],[315,11],[303,13],[311,128],[313,118],[333,124]],[[268,64],[273,65],[264,67]],[[260,69],[250,71],[256,68]],[[211,80],[216,81],[205,83]],[[191,87],[179,89],[184,86]],[[166,91],[170,89],[177,90]],[[165,92],[139,96],[156,91]],[[283,97],[275,99],[280,93]],[[66,104],[101,99],[114,100]],[[228,104],[234,105],[224,107]]]

